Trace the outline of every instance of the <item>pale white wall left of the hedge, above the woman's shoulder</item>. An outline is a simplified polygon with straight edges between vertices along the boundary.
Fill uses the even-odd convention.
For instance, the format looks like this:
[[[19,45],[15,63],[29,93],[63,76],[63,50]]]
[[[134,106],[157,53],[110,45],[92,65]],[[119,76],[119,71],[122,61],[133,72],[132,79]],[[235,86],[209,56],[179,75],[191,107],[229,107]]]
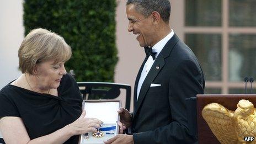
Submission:
[[[18,49],[24,38],[23,0],[0,1],[0,89],[18,78]]]

